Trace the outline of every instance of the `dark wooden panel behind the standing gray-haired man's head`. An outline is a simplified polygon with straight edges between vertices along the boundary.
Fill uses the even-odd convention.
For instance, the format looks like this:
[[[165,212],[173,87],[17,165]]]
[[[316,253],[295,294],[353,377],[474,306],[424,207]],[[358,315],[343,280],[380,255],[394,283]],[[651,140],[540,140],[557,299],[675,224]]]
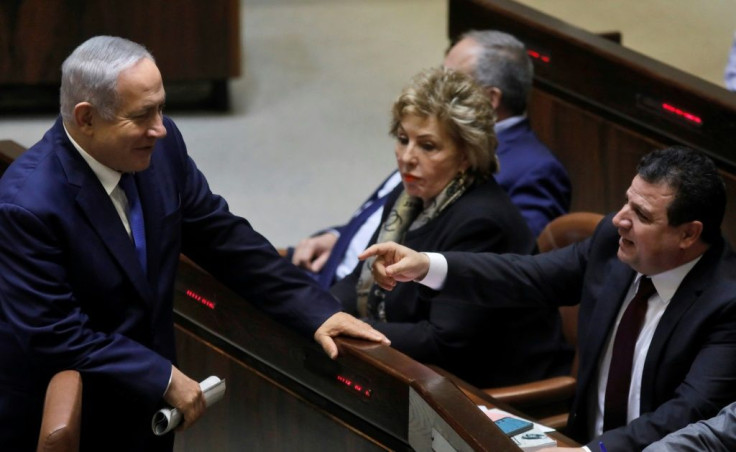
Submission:
[[[166,81],[240,75],[238,0],[0,2],[0,84],[58,84],[61,63],[87,38],[145,45]]]

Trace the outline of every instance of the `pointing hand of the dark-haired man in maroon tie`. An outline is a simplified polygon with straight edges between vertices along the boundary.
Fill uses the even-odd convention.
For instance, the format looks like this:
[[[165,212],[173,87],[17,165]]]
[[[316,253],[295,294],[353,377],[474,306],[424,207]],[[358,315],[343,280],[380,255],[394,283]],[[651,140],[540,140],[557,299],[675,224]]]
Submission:
[[[358,259],[376,256],[373,278],[376,284],[392,290],[397,282],[421,280],[429,271],[429,257],[394,242],[377,243],[363,251]]]

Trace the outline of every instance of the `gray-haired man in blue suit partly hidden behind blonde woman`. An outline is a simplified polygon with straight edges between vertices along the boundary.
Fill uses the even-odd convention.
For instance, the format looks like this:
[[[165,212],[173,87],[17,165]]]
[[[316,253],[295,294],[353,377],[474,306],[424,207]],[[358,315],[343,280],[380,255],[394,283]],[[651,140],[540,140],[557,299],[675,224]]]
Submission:
[[[534,67],[524,44],[507,33],[472,31],[452,46],[444,65],[485,87],[496,110],[500,168],[494,177],[537,237],[547,223],[569,211],[571,189],[567,171],[539,141],[525,115]],[[301,240],[291,255],[294,265],[318,274],[325,288],[349,275],[399,181],[392,173],[348,223]]]

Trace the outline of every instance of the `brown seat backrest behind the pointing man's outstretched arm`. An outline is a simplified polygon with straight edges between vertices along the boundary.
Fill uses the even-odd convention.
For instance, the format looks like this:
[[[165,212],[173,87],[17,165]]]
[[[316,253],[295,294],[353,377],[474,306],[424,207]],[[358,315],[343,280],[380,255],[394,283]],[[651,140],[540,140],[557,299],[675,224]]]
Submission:
[[[590,237],[603,219],[603,215],[593,212],[571,212],[550,221],[537,238],[540,253],[563,248]],[[565,341],[575,347],[576,353],[570,371],[573,377],[578,373],[578,306],[560,306],[562,334]]]

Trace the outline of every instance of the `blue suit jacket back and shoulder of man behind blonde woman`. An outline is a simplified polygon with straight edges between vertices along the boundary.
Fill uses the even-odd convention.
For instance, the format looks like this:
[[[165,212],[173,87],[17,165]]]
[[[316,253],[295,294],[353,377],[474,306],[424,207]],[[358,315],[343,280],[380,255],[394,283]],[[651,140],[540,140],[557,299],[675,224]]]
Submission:
[[[537,237],[542,229],[570,210],[570,179],[565,167],[532,131],[529,120],[498,134],[496,154],[501,169],[496,181]]]

